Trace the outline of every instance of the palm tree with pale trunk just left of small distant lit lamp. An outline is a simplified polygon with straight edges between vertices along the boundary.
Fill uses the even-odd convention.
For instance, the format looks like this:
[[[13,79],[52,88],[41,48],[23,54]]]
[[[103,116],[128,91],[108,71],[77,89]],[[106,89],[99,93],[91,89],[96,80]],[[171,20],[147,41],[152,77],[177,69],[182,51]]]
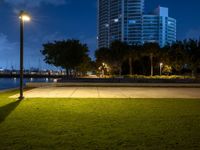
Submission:
[[[143,45],[143,48],[144,48],[144,55],[146,55],[150,58],[151,76],[153,76],[154,75],[153,59],[154,59],[154,57],[158,56],[160,46],[158,43],[145,43]]]

